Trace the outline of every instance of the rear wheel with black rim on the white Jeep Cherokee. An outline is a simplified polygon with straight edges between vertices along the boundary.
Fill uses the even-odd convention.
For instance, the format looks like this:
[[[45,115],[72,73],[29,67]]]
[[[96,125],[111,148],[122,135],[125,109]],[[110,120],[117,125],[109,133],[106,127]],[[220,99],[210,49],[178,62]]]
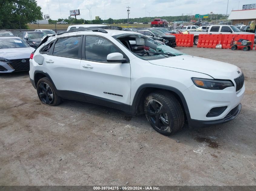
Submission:
[[[56,106],[61,103],[61,97],[57,95],[54,85],[48,78],[41,78],[37,82],[36,90],[43,104]]]

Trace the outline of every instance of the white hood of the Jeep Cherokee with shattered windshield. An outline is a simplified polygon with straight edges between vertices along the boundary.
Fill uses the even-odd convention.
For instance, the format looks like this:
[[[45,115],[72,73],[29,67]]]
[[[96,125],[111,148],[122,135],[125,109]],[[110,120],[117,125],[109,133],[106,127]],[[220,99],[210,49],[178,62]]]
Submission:
[[[180,55],[166,59],[149,60],[148,62],[160,66],[200,72],[203,74],[207,74],[215,79],[234,80],[234,78],[237,78],[239,76],[237,71],[241,73],[240,68],[235,65],[189,55]]]

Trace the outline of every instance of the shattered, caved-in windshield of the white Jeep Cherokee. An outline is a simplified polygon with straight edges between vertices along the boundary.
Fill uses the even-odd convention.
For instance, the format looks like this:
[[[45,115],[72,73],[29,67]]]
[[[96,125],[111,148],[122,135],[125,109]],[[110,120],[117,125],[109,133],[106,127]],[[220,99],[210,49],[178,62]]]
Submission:
[[[153,40],[141,34],[114,36],[131,53],[143,60],[157,60],[184,53],[165,45],[162,41]]]

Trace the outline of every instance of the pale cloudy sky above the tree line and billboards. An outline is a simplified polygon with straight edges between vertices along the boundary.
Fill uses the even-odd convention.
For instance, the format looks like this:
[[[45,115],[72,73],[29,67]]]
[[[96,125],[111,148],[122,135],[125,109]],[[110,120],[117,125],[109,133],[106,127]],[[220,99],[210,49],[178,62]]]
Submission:
[[[48,9],[48,5],[49,9]],[[210,12],[228,14],[231,10],[242,9],[243,5],[254,4],[256,0],[37,0],[41,6],[43,15],[50,14],[53,20],[68,18],[69,10],[80,9],[80,16],[90,20],[91,8],[92,18],[99,16],[101,19],[127,18],[127,8],[131,7],[130,18],[155,16],[178,16],[184,14],[207,14]],[[60,6],[59,6],[60,3]],[[74,16],[73,16],[74,17]]]

